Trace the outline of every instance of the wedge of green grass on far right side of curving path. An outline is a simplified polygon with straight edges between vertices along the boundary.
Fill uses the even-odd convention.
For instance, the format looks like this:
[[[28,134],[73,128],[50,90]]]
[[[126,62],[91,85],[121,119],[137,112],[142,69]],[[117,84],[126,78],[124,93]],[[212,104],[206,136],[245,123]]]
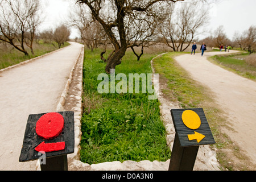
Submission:
[[[210,60],[220,65],[222,68],[228,69],[238,75],[256,80],[256,65],[249,64],[249,62],[246,61],[246,57],[249,57],[249,53],[239,53],[228,56],[216,55],[210,57]]]

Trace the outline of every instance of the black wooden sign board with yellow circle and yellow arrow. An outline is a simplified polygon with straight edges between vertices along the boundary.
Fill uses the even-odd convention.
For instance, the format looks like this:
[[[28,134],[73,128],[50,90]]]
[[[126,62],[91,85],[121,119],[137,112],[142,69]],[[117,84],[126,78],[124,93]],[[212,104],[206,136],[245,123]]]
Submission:
[[[202,108],[172,109],[171,115],[181,147],[215,143]],[[191,123],[191,119],[194,121],[193,123]]]

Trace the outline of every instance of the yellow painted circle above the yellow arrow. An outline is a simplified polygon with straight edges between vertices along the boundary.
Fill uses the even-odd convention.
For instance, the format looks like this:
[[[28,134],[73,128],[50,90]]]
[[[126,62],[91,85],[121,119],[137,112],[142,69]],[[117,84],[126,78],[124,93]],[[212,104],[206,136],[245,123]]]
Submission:
[[[185,126],[192,130],[198,129],[201,125],[201,119],[199,115],[192,110],[185,110],[182,113],[182,121]]]

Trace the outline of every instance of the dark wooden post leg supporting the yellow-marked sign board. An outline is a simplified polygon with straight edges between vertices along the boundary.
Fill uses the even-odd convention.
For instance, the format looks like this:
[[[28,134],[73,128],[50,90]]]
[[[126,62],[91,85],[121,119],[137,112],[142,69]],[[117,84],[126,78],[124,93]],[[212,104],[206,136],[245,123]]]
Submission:
[[[179,138],[175,134],[169,171],[192,171],[198,150],[199,146],[181,147]]]

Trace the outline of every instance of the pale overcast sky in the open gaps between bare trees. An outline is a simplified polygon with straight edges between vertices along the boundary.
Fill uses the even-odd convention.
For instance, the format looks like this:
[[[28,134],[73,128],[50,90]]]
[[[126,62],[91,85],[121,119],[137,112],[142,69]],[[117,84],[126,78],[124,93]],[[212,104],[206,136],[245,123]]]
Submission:
[[[74,0],[41,0],[46,7],[45,21],[43,28],[53,28],[61,21],[68,18],[68,11]],[[200,38],[209,35],[209,31],[214,31],[218,26],[224,26],[224,32],[229,39],[233,38],[234,32],[243,32],[251,25],[256,26],[256,0],[220,0],[213,3],[209,11],[210,22],[204,27],[205,34]],[[79,36],[72,29],[71,38]]]

